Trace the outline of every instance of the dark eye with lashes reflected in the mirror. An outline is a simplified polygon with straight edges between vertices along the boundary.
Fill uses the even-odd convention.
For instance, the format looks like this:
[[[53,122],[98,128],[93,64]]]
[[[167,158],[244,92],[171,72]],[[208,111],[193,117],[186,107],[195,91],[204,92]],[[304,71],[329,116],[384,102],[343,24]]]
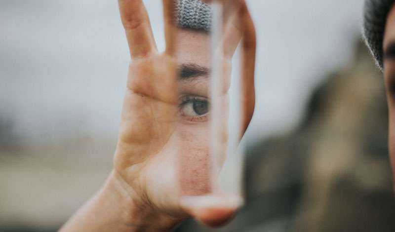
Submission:
[[[191,121],[206,119],[203,118],[209,112],[210,103],[204,97],[183,96],[180,105],[180,115],[187,117]]]

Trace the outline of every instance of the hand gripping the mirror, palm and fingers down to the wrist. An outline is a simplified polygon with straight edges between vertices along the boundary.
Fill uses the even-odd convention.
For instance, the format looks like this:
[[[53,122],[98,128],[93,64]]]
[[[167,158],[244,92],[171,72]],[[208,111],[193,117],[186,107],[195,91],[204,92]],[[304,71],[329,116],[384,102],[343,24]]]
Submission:
[[[176,35],[172,2],[163,1],[166,50],[159,53],[142,1],[119,0],[132,62],[122,109],[115,170],[135,204],[151,210],[158,218],[167,218],[171,224],[172,220],[176,222],[194,216],[208,225],[217,225],[233,215],[238,206],[237,200],[220,193],[211,193],[211,198],[206,197],[203,201],[182,200],[183,191],[210,192],[203,178],[201,185],[197,184],[198,188],[185,186],[177,191],[180,175],[177,163],[180,158],[175,148],[181,147],[179,143],[182,141],[177,138],[175,120],[178,109],[176,41],[182,38]],[[254,108],[255,34],[245,3],[240,1],[239,4],[243,7],[237,16],[246,22],[242,31],[243,57],[248,57],[248,60],[243,59],[243,91],[248,93],[244,94],[243,104],[245,130]],[[204,173],[204,170],[199,171]],[[207,203],[207,199],[214,199],[214,202]],[[205,206],[202,205],[204,202]]]

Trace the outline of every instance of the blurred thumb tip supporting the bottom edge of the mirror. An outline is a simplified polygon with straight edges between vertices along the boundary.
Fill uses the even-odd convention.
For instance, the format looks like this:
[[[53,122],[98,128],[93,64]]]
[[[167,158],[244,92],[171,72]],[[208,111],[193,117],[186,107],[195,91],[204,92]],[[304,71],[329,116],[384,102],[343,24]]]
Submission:
[[[242,205],[240,196],[209,194],[181,197],[181,207],[197,221],[210,226],[220,227],[228,223]]]

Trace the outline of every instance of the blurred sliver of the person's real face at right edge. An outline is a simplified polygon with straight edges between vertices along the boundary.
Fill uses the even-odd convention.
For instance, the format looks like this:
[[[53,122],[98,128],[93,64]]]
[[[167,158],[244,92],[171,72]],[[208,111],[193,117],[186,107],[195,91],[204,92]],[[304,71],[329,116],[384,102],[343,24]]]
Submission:
[[[390,158],[395,176],[395,8],[387,18],[383,41],[384,49],[384,80],[386,85],[389,109],[389,146]]]

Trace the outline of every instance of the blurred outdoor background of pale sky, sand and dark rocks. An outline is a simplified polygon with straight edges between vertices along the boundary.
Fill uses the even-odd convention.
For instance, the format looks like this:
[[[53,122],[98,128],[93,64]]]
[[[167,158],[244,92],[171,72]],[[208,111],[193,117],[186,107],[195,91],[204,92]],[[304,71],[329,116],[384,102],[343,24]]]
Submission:
[[[163,48],[159,1],[145,2]],[[395,231],[363,0],[247,3],[258,35],[247,203],[218,231]],[[0,21],[0,231],[56,231],[112,168],[129,62],[118,3],[1,0]]]

